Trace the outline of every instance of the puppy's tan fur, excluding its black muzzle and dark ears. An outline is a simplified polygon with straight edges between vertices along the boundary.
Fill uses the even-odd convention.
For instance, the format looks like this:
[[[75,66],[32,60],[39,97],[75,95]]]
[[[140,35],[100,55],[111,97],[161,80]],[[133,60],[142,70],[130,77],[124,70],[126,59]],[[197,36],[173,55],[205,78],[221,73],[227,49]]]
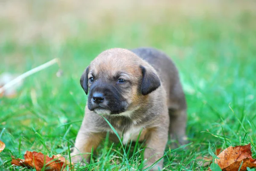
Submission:
[[[163,157],[169,134],[183,143],[186,136],[186,100],[177,69],[172,61],[165,54],[154,49],[138,50],[131,52],[127,49],[114,48],[102,52],[91,62],[88,78],[97,75],[96,80],[100,78],[101,81],[109,81],[116,73],[122,72],[125,73],[123,78],[131,81],[131,87],[123,90],[123,97],[128,103],[126,111],[103,116],[116,129],[119,136],[124,136],[125,141],[129,138],[136,141],[138,133],[142,130],[140,141],[145,140],[144,158],[147,168]],[[147,53],[143,50],[149,55],[158,55],[159,59],[157,61],[153,59],[153,62],[151,59],[144,59],[143,55]],[[138,55],[141,55],[141,58]],[[157,75],[161,81],[160,87],[145,96],[140,93],[143,78],[140,65],[145,67],[147,73]],[[91,84],[88,83],[89,91],[90,86]],[[71,154],[75,156],[72,160],[77,162],[85,158],[88,162],[90,155],[79,154],[90,153],[92,147],[96,149],[106,132],[111,133],[110,139],[117,140],[103,117],[86,107],[84,120],[76,138],[75,150]],[[158,168],[163,168],[163,160],[160,160],[152,170]]]

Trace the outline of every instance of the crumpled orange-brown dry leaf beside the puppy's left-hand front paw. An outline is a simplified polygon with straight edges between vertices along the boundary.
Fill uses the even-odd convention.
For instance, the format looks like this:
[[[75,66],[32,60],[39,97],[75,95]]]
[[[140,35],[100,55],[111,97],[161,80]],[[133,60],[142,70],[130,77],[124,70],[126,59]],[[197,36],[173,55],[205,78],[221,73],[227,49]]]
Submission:
[[[35,168],[36,171],[41,171],[42,168],[44,168],[45,171],[61,171],[64,170],[67,165],[73,165],[73,163],[70,164],[67,162],[60,154],[48,157],[41,152],[26,151],[24,158],[25,159],[15,159],[12,156],[12,165]]]

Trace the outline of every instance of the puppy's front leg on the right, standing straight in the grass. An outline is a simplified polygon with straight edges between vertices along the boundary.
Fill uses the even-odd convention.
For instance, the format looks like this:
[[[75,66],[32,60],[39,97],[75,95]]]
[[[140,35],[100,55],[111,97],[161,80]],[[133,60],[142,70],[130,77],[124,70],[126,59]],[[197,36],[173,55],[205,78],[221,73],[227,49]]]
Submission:
[[[168,141],[168,129],[166,128],[152,128],[149,130],[148,137],[146,139],[146,149],[144,152],[144,160],[146,160],[145,168],[153,165],[158,159],[163,157],[166,143]],[[158,171],[163,169],[163,159],[160,160],[152,171]]]

